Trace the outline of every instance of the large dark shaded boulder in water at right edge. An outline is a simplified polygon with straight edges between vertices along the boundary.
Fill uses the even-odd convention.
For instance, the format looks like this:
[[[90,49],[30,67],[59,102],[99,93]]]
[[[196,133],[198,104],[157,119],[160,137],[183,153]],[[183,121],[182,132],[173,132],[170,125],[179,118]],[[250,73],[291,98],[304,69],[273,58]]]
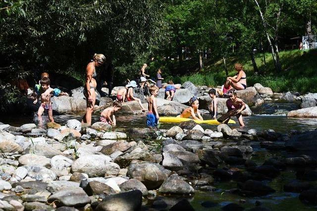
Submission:
[[[287,148],[293,150],[317,150],[317,130],[310,131],[304,134],[294,135],[289,141],[285,142]]]

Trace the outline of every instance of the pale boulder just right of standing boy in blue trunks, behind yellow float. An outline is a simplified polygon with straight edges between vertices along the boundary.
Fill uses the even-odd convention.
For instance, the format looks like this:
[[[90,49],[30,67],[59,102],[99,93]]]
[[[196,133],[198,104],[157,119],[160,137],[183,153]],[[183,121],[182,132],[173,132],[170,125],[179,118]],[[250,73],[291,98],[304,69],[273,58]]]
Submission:
[[[188,106],[181,103],[164,99],[157,99],[157,105],[159,115],[163,116],[177,116],[188,108]]]

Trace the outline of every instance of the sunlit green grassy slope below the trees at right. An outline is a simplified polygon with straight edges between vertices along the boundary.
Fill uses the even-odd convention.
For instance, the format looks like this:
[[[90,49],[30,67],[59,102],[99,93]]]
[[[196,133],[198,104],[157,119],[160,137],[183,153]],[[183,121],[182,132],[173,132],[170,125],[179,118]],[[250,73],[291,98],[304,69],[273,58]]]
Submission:
[[[300,51],[289,50],[280,52],[282,72],[276,73],[270,53],[265,53],[266,67],[262,53],[256,54],[256,62],[261,76],[253,71],[251,59],[231,57],[227,60],[229,75],[235,75],[234,64],[244,65],[247,74],[248,86],[260,83],[271,87],[275,92],[299,91],[301,93],[317,92],[317,50]],[[196,85],[217,86],[225,81],[225,72],[222,60],[205,67],[205,70],[189,76],[174,77],[177,82],[191,81]]]

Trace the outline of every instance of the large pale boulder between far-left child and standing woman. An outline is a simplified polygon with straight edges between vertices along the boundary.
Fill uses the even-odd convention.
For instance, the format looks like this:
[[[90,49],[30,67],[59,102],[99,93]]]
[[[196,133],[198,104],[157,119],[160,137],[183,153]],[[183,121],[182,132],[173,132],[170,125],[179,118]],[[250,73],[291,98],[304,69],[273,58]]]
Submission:
[[[86,100],[69,96],[52,97],[53,111],[59,114],[79,114],[86,111]]]

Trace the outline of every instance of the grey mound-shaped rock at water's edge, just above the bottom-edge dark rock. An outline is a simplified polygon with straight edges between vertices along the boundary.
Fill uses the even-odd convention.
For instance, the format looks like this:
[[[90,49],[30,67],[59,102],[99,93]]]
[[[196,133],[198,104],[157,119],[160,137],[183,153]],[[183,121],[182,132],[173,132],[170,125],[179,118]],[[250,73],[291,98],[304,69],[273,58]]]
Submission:
[[[170,194],[192,194],[194,193],[194,188],[185,182],[179,176],[171,176],[167,178],[162,185],[159,187],[159,192],[170,193]]]

